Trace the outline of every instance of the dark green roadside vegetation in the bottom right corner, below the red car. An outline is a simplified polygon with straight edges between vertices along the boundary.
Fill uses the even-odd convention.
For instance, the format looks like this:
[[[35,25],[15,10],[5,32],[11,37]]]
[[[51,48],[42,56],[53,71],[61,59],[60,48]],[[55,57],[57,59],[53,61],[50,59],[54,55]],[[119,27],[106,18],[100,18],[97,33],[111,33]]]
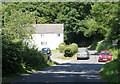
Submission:
[[[108,81],[110,84],[119,84],[119,64],[120,60],[112,60],[107,62],[100,70],[101,78]]]

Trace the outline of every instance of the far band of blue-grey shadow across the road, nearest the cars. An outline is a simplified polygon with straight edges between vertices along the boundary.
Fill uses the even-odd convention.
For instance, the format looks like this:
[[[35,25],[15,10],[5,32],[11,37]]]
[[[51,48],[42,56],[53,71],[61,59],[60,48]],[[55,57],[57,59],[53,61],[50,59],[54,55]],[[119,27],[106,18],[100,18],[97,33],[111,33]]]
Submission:
[[[41,71],[50,72],[81,72],[81,71],[99,71],[104,64],[76,64],[76,63],[63,63],[58,66],[53,66],[48,69],[43,69]]]

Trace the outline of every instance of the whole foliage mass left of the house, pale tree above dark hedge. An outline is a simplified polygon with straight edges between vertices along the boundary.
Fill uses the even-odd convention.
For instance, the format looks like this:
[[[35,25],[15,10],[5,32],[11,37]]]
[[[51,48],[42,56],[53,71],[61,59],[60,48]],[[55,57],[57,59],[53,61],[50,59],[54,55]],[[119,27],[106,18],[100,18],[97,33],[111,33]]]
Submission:
[[[8,9],[4,9],[4,14],[5,10]],[[32,39],[32,34],[35,33],[34,27],[29,23],[31,15],[17,10],[9,12],[10,16],[4,15],[2,28],[2,76],[41,69],[48,65],[47,56],[34,46],[29,48],[25,43]]]

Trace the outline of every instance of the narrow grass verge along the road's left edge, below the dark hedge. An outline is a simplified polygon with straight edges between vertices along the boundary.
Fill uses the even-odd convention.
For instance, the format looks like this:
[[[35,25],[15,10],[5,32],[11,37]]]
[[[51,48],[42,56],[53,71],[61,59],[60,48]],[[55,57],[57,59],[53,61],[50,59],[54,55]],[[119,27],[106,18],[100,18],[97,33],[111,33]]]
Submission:
[[[2,77],[2,84],[5,84],[6,82],[12,81],[20,76],[24,76],[26,74],[30,74],[33,71],[38,71],[41,69],[49,68],[51,66],[58,65],[56,62],[51,62],[50,60],[47,61],[47,64],[43,64],[42,67],[38,66],[35,69],[32,69],[31,67],[27,68],[25,71],[21,73],[15,73],[15,74],[8,74],[6,77]]]

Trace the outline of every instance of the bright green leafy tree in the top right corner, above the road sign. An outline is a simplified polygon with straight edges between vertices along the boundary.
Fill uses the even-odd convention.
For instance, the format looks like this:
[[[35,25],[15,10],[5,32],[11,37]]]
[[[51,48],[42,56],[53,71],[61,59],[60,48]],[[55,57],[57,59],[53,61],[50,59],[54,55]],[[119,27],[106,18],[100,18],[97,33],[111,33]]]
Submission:
[[[97,28],[104,32],[104,36],[108,40],[118,38],[119,31],[119,15],[118,2],[111,3],[95,3],[92,6],[91,14],[96,23]],[[94,28],[95,29],[95,28]]]

